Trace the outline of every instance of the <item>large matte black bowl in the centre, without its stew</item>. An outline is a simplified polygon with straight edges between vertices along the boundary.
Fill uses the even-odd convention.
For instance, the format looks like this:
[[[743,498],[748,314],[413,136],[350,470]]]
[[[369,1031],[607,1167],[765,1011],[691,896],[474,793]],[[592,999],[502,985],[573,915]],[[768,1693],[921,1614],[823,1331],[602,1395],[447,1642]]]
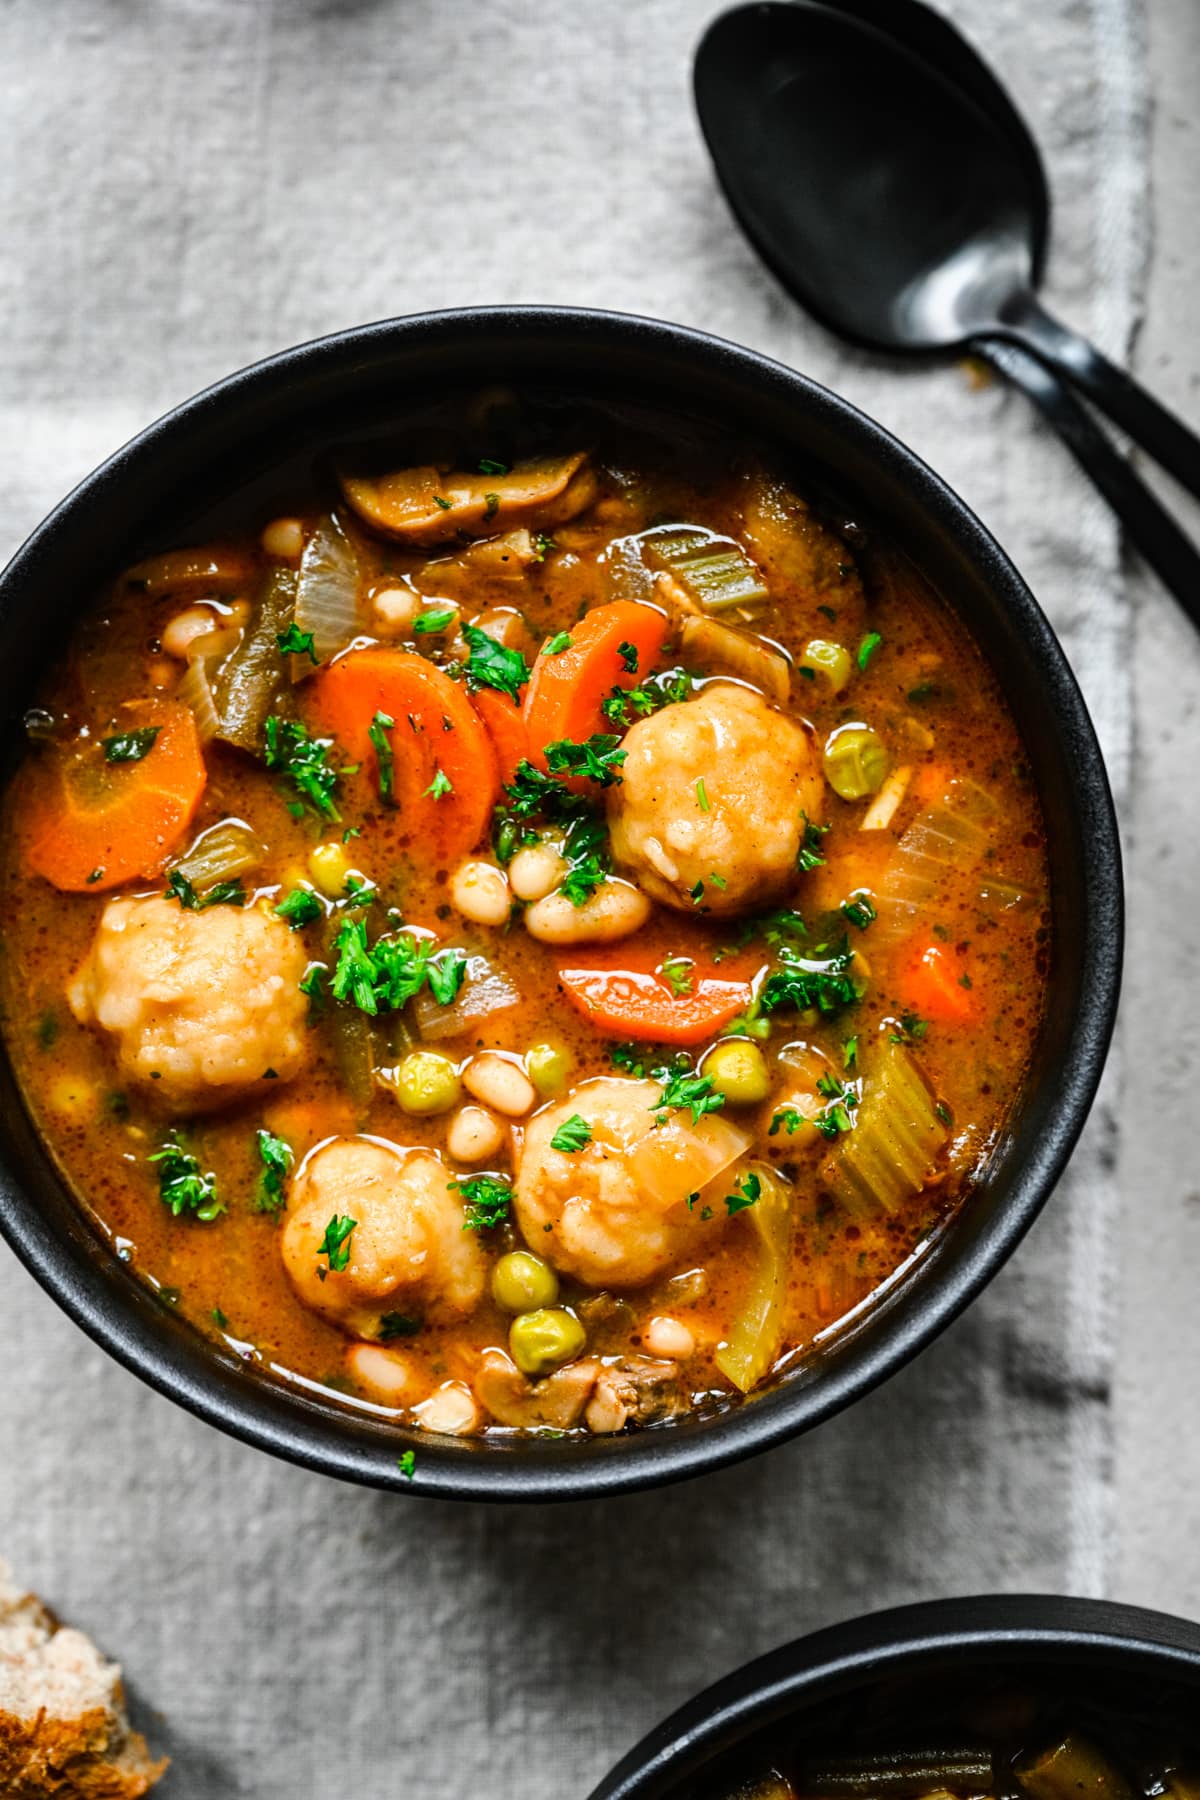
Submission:
[[[703,418],[811,470],[919,563],[995,668],[1049,826],[1054,961],[1022,1103],[963,1217],[813,1368],[709,1420],[587,1444],[453,1442],[272,1382],[175,1316],[112,1255],[0,1067],[0,1228],[106,1350],[203,1418],[313,1469],[398,1490],[551,1499],[673,1481],[828,1418],[930,1341],[1000,1267],[1074,1147],[1101,1075],[1121,970],[1121,855],[1096,734],[1058,641],[968,508],[826,389],[732,344],[648,319],[479,310],[363,326],[286,351],[189,400],[119,450],[0,578],[0,716],[16,722],[97,585],[223,493],[446,387],[495,382],[631,398]],[[419,1449],[410,1485],[399,1449]]]

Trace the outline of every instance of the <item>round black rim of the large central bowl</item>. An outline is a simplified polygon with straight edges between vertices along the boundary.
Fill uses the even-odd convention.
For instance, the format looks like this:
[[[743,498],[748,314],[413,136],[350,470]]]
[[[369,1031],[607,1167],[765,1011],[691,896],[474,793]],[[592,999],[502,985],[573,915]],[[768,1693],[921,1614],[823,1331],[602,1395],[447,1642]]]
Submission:
[[[896,1373],[979,1294],[1049,1199],[1103,1073],[1123,963],[1121,848],[1101,749],[1070,664],[1024,578],[966,502],[885,427],[810,376],[689,326],[574,306],[470,306],[383,319],[277,351],[169,409],[86,475],[0,574],[0,607],[20,603],[27,585],[36,585],[43,558],[70,538],[81,517],[103,508],[112,491],[128,491],[140,473],[149,477],[162,454],[180,443],[185,446],[196,432],[212,430],[228,410],[277,398],[291,383],[297,407],[306,394],[327,398],[338,382],[353,382],[365,369],[381,367],[389,353],[443,351],[446,344],[452,349],[471,347],[480,340],[518,349],[538,335],[567,344],[581,369],[588,355],[628,347],[666,362],[702,364],[712,380],[732,383],[739,394],[806,409],[844,445],[862,452],[874,470],[903,484],[919,515],[954,540],[955,549],[979,567],[993,592],[1016,614],[1036,652],[1090,851],[1085,871],[1088,907],[1079,922],[1083,976],[1072,1057],[1061,1073],[1058,1103],[1038,1143],[1024,1156],[1006,1206],[982,1224],[970,1255],[954,1269],[928,1278],[919,1305],[894,1316],[887,1332],[858,1346],[853,1357],[826,1370],[820,1379],[783,1382],[772,1395],[734,1406],[694,1429],[675,1424],[604,1440],[588,1447],[587,1460],[556,1454],[554,1445],[542,1442],[466,1456],[464,1444],[419,1435],[417,1471],[405,1474],[398,1453],[414,1447],[414,1436],[398,1431],[390,1454],[383,1456],[353,1442],[349,1433],[338,1436],[329,1429],[333,1409],[320,1413],[299,1386],[279,1382],[277,1393],[268,1395],[266,1384],[246,1382],[243,1391],[232,1391],[207,1366],[212,1359],[196,1355],[191,1339],[205,1345],[198,1334],[189,1332],[187,1345],[178,1337],[173,1341],[137,1316],[128,1301],[117,1300],[79,1247],[47,1228],[38,1206],[0,1163],[0,1235],[76,1325],[131,1373],[209,1424],[302,1467],[392,1492],[453,1499],[583,1499],[689,1480],[797,1436]],[[356,1415],[338,1409],[336,1417],[353,1422]],[[635,1449],[622,1449],[630,1445]]]

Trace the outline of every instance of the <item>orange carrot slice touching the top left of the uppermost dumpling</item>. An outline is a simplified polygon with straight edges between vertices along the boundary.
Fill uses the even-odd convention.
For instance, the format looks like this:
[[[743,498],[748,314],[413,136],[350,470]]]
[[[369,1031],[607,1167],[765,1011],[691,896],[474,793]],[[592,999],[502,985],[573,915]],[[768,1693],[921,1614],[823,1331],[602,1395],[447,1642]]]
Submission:
[[[667,635],[667,617],[637,599],[615,599],[572,625],[570,644],[556,657],[542,652],[525,689],[525,725],[531,756],[545,767],[547,743],[572,738],[583,743],[597,731],[612,731],[601,713],[613,688],[633,688],[658,657]],[[622,657],[631,644],[637,657]],[[628,668],[628,662],[635,662]]]

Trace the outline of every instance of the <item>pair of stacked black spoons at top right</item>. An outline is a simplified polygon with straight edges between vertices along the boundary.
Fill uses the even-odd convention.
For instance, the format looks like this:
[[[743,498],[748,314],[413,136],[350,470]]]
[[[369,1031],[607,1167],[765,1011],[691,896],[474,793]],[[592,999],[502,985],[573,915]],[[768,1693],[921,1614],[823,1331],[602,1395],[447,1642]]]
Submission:
[[[981,340],[1200,625],[1196,549],[1092,416],[1018,347],[1045,355],[1045,346],[1007,319],[986,317],[982,301],[1004,293],[1040,313],[1031,288],[1042,272],[1049,193],[1020,113],[954,25],[919,0],[738,7],[700,45],[696,106],[727,198],[784,286],[869,347],[930,351]],[[972,310],[970,329],[963,308]],[[937,313],[941,333],[932,329]],[[1200,475],[1200,441],[1103,365],[1151,419],[1166,421],[1171,455],[1159,430],[1139,432],[1142,443],[1175,473]],[[1128,412],[1114,416],[1130,427]],[[1180,441],[1182,464],[1173,454]]]

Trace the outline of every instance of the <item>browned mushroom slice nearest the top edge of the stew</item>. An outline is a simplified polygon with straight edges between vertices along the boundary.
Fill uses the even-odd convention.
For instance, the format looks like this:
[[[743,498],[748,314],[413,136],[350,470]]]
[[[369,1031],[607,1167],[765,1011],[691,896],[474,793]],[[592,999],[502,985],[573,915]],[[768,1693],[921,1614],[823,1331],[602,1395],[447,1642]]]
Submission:
[[[405,544],[443,544],[455,533],[484,538],[520,526],[558,526],[596,497],[587,450],[533,457],[504,475],[401,468],[390,475],[342,472],[342,491],[358,517]]]

